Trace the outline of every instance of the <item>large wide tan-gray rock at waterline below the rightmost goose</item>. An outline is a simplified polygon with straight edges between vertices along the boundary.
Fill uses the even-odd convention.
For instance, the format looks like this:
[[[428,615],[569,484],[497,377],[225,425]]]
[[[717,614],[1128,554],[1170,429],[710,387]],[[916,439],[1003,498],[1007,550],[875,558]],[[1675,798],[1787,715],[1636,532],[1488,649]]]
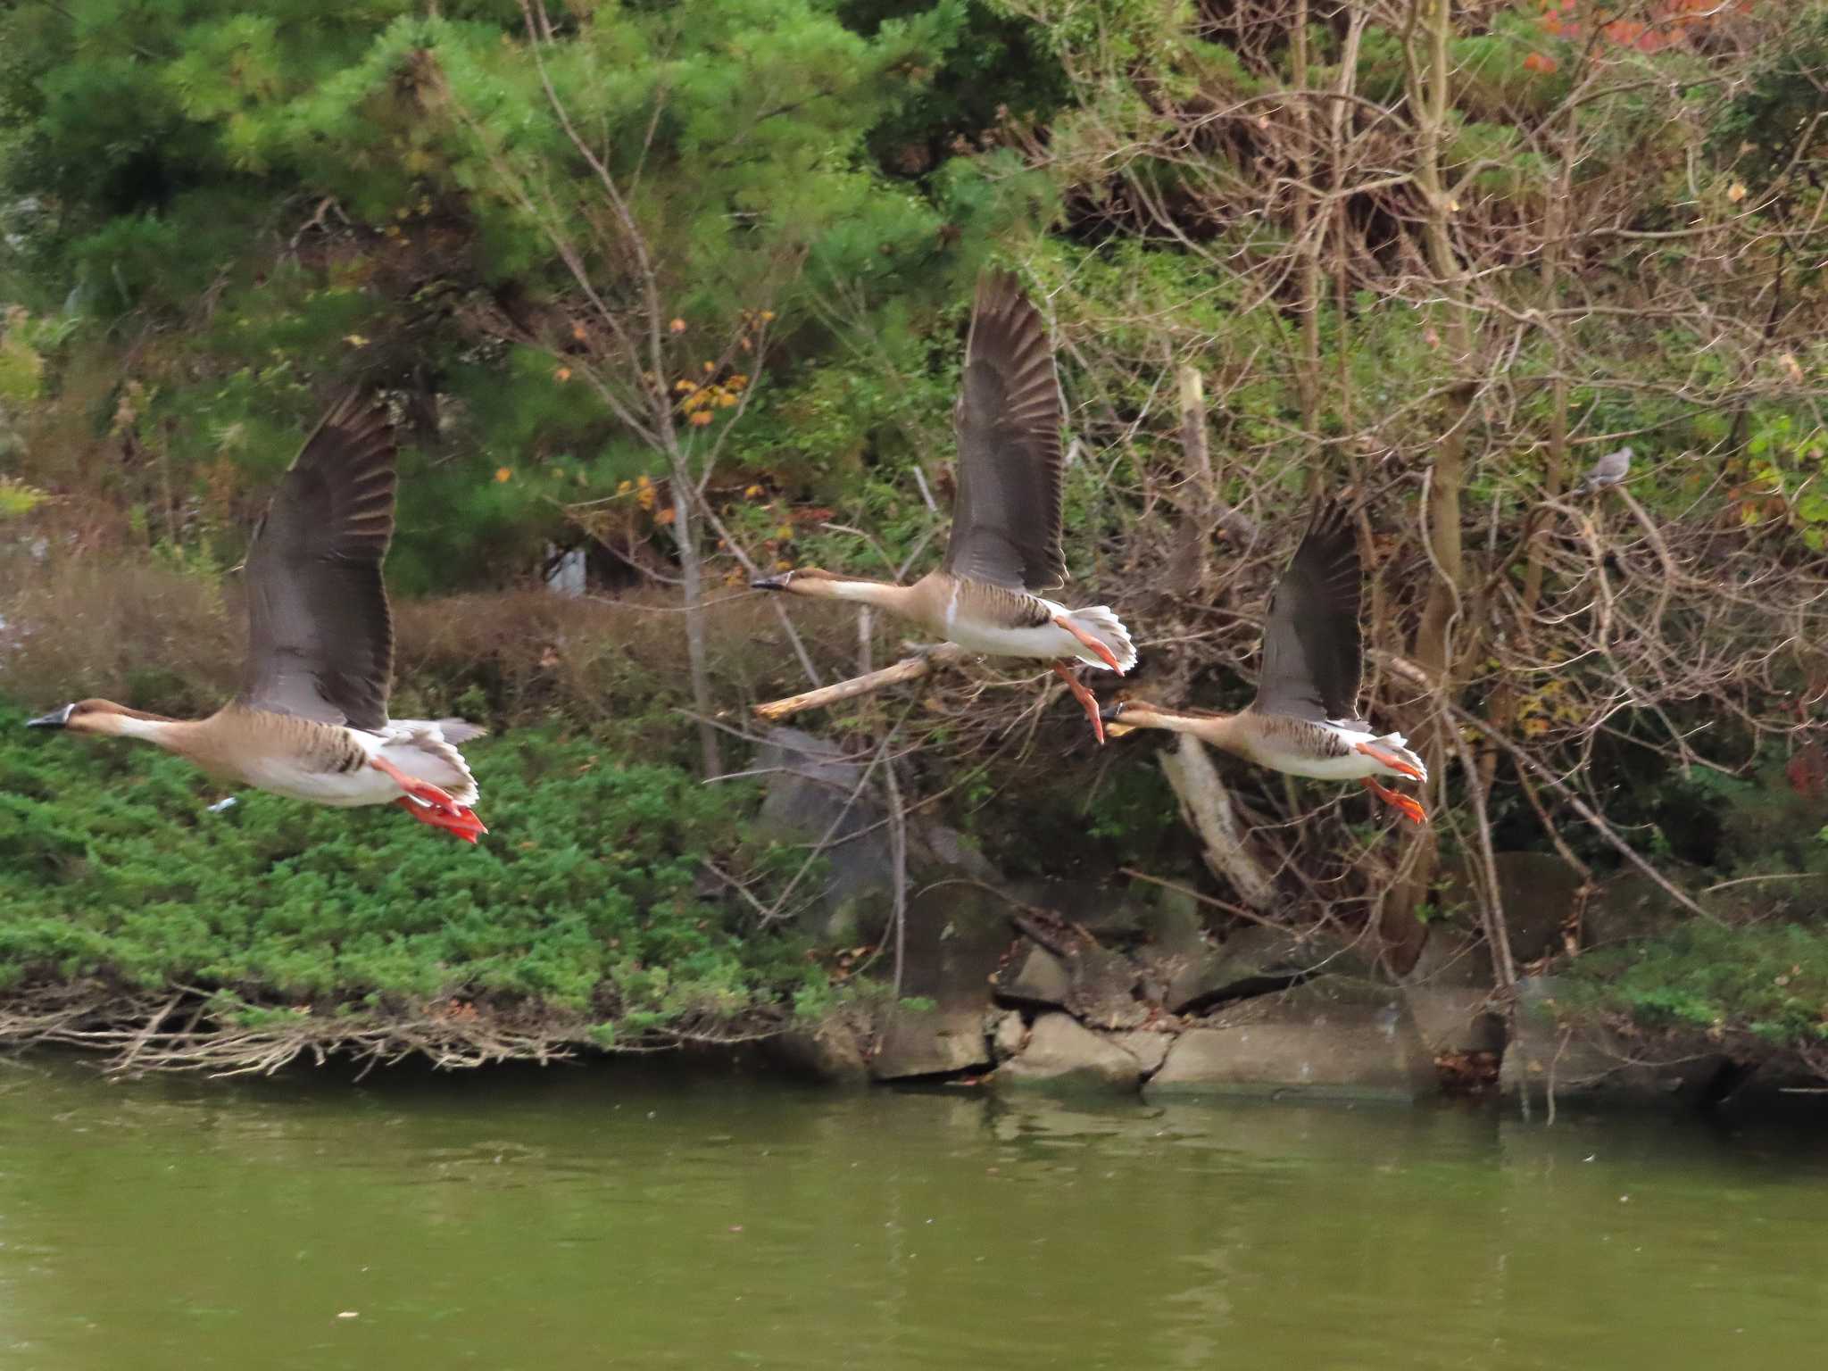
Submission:
[[[1188,1029],[1148,1084],[1157,1095],[1300,1093],[1417,1100],[1433,1057],[1402,993],[1314,980],[1241,1002]]]

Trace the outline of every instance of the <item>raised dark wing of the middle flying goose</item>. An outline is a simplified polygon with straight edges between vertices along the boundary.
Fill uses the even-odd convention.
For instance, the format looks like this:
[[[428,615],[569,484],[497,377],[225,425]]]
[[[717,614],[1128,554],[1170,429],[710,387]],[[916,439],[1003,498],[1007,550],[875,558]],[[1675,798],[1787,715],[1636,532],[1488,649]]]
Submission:
[[[945,570],[1009,590],[1064,585],[1060,378],[1047,325],[1009,272],[978,282],[952,422],[958,497]]]

